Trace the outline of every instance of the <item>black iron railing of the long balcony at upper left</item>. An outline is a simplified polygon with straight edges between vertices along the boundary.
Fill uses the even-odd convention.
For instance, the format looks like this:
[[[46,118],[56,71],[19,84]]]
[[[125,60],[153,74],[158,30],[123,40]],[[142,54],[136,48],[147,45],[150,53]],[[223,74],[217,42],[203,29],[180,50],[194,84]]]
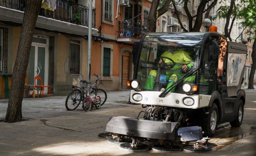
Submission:
[[[24,11],[25,0],[0,0],[0,6]],[[56,10],[41,9],[39,15],[88,27],[88,7],[70,0],[56,0]],[[95,9],[92,10],[92,27],[95,28]]]

